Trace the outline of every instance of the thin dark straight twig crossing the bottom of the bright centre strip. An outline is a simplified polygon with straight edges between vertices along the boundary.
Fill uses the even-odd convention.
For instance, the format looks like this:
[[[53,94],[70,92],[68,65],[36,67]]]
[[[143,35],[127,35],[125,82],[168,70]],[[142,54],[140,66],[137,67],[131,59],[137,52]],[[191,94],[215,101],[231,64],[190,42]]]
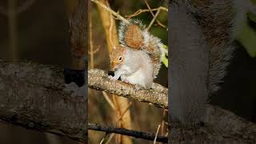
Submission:
[[[137,130],[127,130],[124,128],[114,128],[109,126],[100,126],[98,124],[88,124],[88,130],[98,130],[98,131],[105,131],[106,133],[115,133],[115,134],[122,134],[127,135],[135,138],[142,138],[147,139],[150,141],[154,141],[155,134],[145,133],[142,131]],[[168,138],[163,136],[158,136],[156,139],[157,142],[167,142]]]

